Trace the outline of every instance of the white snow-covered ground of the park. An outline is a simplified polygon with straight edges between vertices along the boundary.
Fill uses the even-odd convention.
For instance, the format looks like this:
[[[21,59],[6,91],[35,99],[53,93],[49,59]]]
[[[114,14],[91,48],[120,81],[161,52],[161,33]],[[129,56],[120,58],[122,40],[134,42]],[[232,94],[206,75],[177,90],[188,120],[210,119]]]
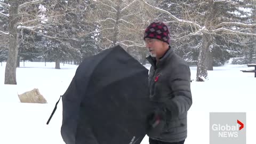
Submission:
[[[55,102],[65,93],[77,66],[55,63],[23,62],[17,68],[17,85],[4,85],[5,63],[0,64],[0,143],[65,144],[61,138],[62,103],[60,101],[49,125],[46,125]],[[149,68],[149,65],[146,65]],[[196,67],[190,67],[191,79]],[[209,143],[210,112],[246,112],[246,143],[255,143],[256,78],[246,65],[225,65],[208,71],[209,80],[191,83],[193,105],[188,112],[188,138],[185,143]],[[17,94],[39,89],[46,104],[21,103]],[[142,144],[148,143],[146,136]],[[244,143],[241,143],[244,144]]]

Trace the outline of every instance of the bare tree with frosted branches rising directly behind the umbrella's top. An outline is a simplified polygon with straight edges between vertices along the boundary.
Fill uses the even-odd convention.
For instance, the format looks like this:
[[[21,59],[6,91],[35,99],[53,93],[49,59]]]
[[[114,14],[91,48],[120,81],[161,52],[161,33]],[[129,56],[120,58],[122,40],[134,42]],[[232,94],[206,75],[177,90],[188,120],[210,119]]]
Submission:
[[[91,21],[98,26],[91,33],[99,34],[102,49],[121,45],[129,53],[145,50],[142,42],[143,31],[148,20],[154,17],[150,18],[149,11],[141,1],[97,0],[91,3],[94,6],[90,10],[91,19],[86,22]]]

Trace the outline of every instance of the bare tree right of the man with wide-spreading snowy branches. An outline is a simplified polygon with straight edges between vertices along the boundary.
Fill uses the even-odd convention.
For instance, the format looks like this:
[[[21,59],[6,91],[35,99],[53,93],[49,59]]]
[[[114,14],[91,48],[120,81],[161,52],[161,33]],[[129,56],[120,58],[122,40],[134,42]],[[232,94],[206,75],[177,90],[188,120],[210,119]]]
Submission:
[[[187,25],[190,27],[190,32],[182,33],[183,31],[179,31],[178,37],[173,37],[172,41],[177,41],[179,39],[184,39],[191,36],[200,36],[202,37],[202,44],[199,50],[198,62],[197,62],[197,75],[196,81],[205,81],[207,79],[207,67],[206,67],[206,58],[210,52],[210,45],[213,43],[213,37],[215,35],[224,36],[224,35],[235,35],[235,36],[255,36],[254,33],[249,33],[245,31],[246,27],[254,27],[256,23],[242,23],[240,21],[232,21],[233,19],[221,19],[221,15],[218,15],[218,10],[220,10],[218,6],[233,6],[233,7],[250,7],[252,4],[239,5],[239,3],[234,1],[195,1],[194,3],[190,1],[182,2],[182,5],[187,5],[188,9],[191,9],[191,4],[194,4],[197,9],[184,10],[182,18],[176,17],[172,13],[159,9],[154,5],[150,5],[145,0],[141,0],[147,7],[151,9],[157,10],[158,12],[162,12],[167,14],[171,19],[172,23],[178,23],[179,27],[183,25]],[[178,1],[176,2],[178,3]],[[196,8],[194,7],[194,8]],[[199,12],[201,11],[201,12]],[[230,11],[231,13],[232,11]],[[168,21],[167,21],[168,22]]]

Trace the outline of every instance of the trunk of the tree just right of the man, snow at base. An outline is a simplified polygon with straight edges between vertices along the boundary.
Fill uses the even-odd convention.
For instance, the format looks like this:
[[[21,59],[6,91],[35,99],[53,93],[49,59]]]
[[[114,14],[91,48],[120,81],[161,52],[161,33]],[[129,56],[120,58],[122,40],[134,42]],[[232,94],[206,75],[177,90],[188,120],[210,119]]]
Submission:
[[[196,81],[197,82],[204,82],[206,79],[208,79],[205,61],[206,61],[206,57],[209,53],[210,43],[211,43],[210,35],[203,34],[202,46],[199,51],[199,57],[198,57],[198,61],[197,61],[197,71],[196,71]]]

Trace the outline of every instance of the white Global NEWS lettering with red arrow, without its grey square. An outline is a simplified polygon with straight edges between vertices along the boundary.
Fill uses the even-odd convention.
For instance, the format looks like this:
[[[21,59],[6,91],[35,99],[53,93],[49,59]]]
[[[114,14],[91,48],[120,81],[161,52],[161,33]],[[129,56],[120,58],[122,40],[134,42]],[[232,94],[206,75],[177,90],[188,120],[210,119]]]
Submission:
[[[236,125],[212,124],[212,131],[218,132],[219,138],[237,138],[238,132],[244,128],[244,124],[237,119]]]

